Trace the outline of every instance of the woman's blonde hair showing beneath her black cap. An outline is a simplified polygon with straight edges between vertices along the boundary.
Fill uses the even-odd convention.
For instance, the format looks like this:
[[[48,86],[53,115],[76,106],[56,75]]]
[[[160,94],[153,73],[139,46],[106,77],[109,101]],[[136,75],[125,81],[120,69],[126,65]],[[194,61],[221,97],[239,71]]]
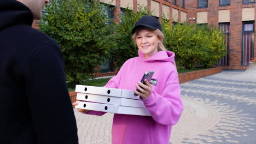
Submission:
[[[164,41],[164,34],[159,29],[152,30],[147,27],[141,27],[141,28],[146,28],[149,31],[153,32],[155,35],[158,35],[158,38],[160,40],[160,43],[158,44],[158,51],[166,51],[164,44],[162,44]],[[137,28],[136,32],[132,36],[133,40],[135,40],[135,41],[136,41],[136,35],[137,35],[138,29],[139,28]]]

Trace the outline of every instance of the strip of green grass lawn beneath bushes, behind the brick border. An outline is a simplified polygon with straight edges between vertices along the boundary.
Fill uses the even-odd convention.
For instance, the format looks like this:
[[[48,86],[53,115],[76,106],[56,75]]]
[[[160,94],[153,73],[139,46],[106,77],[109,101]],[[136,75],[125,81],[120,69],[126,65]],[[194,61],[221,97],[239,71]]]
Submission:
[[[187,69],[184,69],[184,68],[179,68],[178,69],[178,74],[187,73],[187,72],[190,72],[190,71],[202,70],[202,69],[203,68],[193,68],[191,70],[187,70]],[[87,80],[87,81],[84,81],[83,83],[80,83],[79,85],[102,87],[102,86],[106,85],[106,83],[110,79],[111,79],[111,77],[104,78],[104,79]],[[74,90],[75,90],[75,88],[68,88],[69,92],[74,91]]]

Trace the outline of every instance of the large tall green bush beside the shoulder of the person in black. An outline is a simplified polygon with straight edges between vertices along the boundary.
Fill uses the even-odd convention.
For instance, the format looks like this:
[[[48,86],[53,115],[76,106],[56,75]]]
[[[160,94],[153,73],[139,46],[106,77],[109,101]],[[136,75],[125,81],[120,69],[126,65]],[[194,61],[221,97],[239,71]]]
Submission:
[[[106,59],[113,25],[103,5],[90,0],[52,0],[40,31],[48,34],[62,48],[68,87],[90,79],[94,68]]]

